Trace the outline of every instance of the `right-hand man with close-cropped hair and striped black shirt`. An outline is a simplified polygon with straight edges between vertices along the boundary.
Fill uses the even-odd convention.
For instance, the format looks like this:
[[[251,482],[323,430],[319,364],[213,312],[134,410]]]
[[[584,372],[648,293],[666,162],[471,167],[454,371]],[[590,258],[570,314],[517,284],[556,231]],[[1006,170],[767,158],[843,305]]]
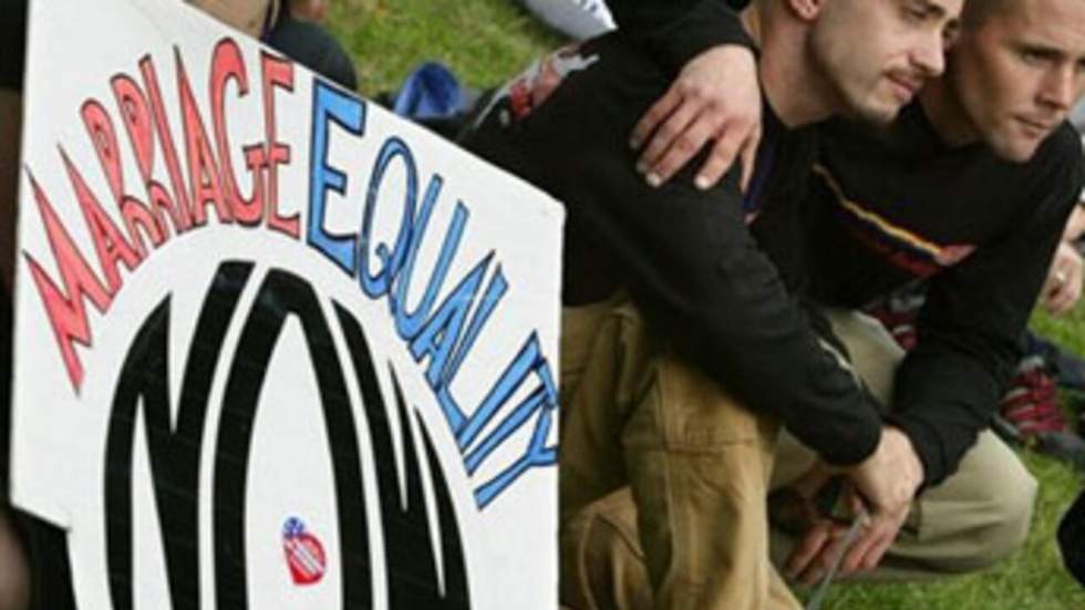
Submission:
[[[887,418],[908,435],[924,490],[911,527],[899,537],[870,528],[847,555],[845,573],[878,565],[887,547],[897,573],[976,569],[1024,540],[1035,482],[985,427],[1083,182],[1081,146],[1065,117],[1085,86],[1077,68],[1085,34],[1064,27],[1083,22],[1085,6],[1075,0],[967,3],[946,76],[928,83],[889,131],[825,126],[810,197],[797,207],[773,201],[754,224],[761,247],[822,307],[857,308],[916,279],[931,282],[907,358],[887,339],[851,353],[891,406]],[[838,334],[877,332],[837,318],[847,322]],[[802,477],[815,459],[794,441],[776,457],[774,486]],[[798,487],[816,489],[808,480],[824,471]],[[897,472],[911,479],[909,467]],[[639,586],[621,595],[644,598],[636,573],[609,569],[638,562],[636,535],[604,536],[634,528],[632,509],[614,498],[585,526],[598,545],[578,556],[587,561],[581,589]],[[787,566],[810,580],[836,550],[819,524]]]

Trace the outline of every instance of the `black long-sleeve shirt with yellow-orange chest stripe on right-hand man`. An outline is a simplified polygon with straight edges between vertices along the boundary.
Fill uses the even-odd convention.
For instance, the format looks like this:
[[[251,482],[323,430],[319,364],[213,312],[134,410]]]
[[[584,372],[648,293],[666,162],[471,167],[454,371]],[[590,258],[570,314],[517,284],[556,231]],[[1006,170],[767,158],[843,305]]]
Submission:
[[[681,65],[735,42],[719,34],[735,15],[720,0],[704,1],[717,10],[680,0],[619,2],[612,12],[668,65]],[[682,27],[696,35],[682,35]],[[1017,362],[1019,338],[1081,193],[1081,143],[1063,125],[1029,163],[1002,162],[982,144],[944,146],[919,103],[886,134],[836,121],[820,136],[807,204],[774,201],[754,231],[789,283],[823,304],[861,307],[930,279],[891,420],[933,485],[990,423]]]

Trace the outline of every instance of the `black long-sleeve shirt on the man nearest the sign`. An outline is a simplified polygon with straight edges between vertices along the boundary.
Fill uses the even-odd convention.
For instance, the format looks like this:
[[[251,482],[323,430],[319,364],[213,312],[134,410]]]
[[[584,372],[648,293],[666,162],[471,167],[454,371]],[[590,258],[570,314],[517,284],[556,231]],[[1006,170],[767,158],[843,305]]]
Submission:
[[[670,76],[620,33],[566,53],[560,65],[555,72],[569,73],[545,103],[526,116],[516,100],[496,103],[465,145],[565,203],[566,303],[622,287],[657,332],[826,459],[869,455],[880,436],[877,405],[822,347],[755,244],[735,173],[709,192],[690,173],[661,188],[636,173],[629,133]],[[794,198],[808,176],[812,134],[784,128],[771,108],[765,115],[755,179],[767,185],[765,200]]]

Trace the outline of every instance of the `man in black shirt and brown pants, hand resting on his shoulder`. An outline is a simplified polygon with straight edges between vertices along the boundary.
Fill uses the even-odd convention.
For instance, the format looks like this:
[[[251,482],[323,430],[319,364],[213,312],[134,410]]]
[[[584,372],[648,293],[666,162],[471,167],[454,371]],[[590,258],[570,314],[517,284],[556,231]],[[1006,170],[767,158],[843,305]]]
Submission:
[[[912,482],[878,476],[907,438],[884,427],[745,219],[797,203],[813,153],[802,125],[837,112],[887,122],[939,74],[960,6],[761,0],[743,13],[767,102],[746,210],[736,175],[654,189],[633,172],[627,134],[669,79],[620,33],[559,53],[536,72],[545,83],[514,83],[516,99],[468,135],[567,206],[562,524],[631,484],[658,608],[797,607],[767,558],[777,421],[846,468],[879,517],[907,508]]]

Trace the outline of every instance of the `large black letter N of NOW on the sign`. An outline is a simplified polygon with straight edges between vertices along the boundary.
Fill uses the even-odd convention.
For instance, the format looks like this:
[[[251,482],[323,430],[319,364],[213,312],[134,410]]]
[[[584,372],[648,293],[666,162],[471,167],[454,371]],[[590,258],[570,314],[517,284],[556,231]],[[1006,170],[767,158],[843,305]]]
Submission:
[[[226,262],[204,301],[180,390],[176,428],[170,425],[169,297],[136,334],[121,369],[105,449],[105,546],[115,610],[132,601],[132,452],[136,407],[143,399],[155,504],[175,609],[199,608],[199,453],[207,393],[223,339],[252,266]]]

